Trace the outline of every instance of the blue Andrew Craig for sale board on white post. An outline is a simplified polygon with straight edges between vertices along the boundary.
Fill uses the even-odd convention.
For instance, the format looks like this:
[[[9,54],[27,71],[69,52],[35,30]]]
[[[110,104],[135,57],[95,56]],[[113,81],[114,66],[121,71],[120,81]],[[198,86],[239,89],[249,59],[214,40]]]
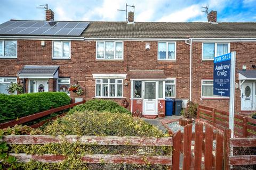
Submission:
[[[213,95],[230,95],[231,53],[214,57]]]

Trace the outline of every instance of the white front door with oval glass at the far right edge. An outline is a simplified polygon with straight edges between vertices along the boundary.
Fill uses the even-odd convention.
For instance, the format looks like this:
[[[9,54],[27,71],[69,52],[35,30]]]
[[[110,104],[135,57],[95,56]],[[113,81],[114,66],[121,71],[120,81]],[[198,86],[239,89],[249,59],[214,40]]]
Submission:
[[[253,111],[253,83],[246,82],[242,85],[241,110]]]

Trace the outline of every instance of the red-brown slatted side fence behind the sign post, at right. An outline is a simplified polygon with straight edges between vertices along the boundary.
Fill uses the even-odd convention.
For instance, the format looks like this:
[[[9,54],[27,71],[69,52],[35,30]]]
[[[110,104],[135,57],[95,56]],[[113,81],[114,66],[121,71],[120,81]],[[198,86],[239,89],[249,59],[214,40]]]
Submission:
[[[221,130],[229,128],[229,113],[219,109],[199,105],[197,118]],[[256,137],[256,120],[235,114],[234,134],[236,137]]]

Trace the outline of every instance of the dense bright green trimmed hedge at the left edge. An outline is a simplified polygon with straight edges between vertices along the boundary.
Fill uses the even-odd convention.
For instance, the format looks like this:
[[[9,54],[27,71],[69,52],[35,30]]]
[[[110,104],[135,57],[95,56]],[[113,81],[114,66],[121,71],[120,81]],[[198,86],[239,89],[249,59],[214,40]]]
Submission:
[[[0,94],[0,123],[68,104],[70,104],[70,98],[64,92]]]

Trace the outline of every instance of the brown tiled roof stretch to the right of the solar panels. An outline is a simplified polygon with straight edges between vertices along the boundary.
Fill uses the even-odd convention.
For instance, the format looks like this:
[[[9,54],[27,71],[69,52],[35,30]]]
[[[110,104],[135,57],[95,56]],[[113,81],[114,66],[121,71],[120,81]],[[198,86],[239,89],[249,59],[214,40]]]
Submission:
[[[256,22],[90,21],[85,38],[256,38]]]

